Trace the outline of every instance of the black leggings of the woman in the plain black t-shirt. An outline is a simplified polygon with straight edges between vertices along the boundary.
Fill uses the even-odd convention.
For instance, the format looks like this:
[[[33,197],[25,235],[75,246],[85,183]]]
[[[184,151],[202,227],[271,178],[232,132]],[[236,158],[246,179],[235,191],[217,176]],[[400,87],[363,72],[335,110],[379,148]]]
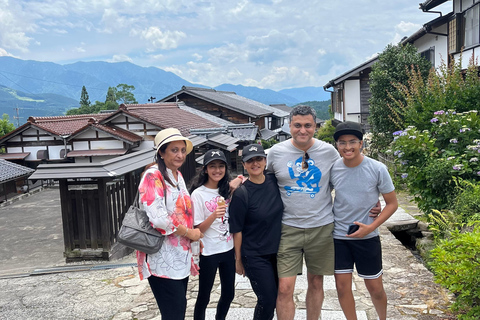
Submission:
[[[243,267],[257,295],[254,320],[273,319],[277,302],[277,255],[243,256]]]

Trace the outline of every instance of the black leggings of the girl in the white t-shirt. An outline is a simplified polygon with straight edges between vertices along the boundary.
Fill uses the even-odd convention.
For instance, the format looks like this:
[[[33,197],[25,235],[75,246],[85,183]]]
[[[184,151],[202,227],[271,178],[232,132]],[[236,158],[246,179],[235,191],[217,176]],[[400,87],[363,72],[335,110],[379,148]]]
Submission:
[[[205,310],[210,302],[215,275],[220,275],[221,293],[217,304],[216,320],[224,320],[235,296],[235,255],[234,250],[211,256],[200,257],[200,276],[198,278],[198,296],[193,318],[205,319]]]

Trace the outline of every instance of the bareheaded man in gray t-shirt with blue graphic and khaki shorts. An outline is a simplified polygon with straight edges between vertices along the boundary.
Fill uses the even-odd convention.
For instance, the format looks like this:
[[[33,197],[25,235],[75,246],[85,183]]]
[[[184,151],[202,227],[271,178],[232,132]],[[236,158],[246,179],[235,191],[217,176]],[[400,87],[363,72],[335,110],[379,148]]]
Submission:
[[[275,173],[284,204],[277,254],[277,318],[293,320],[293,292],[303,258],[308,271],[307,317],[318,319],[323,303],[323,276],[334,271],[330,169],[339,159],[335,148],[313,138],[316,114],[309,106],[290,113],[292,139],[274,145],[267,170]]]

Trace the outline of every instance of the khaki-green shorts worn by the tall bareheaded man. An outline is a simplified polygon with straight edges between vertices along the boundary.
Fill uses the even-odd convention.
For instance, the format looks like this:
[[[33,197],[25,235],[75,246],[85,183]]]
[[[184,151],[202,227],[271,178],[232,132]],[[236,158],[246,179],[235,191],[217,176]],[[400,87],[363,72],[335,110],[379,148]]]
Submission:
[[[282,224],[282,237],[277,254],[278,277],[287,278],[302,273],[304,255],[309,273],[333,275],[333,223],[307,229]]]

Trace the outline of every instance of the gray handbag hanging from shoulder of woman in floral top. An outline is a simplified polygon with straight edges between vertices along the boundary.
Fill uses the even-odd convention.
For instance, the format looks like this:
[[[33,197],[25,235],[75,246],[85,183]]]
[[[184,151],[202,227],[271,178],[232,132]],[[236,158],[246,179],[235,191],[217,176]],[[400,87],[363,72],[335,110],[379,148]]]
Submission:
[[[126,247],[154,254],[162,247],[163,238],[164,235],[152,227],[145,210],[139,208],[137,191],[133,204],[125,213],[117,241]]]

